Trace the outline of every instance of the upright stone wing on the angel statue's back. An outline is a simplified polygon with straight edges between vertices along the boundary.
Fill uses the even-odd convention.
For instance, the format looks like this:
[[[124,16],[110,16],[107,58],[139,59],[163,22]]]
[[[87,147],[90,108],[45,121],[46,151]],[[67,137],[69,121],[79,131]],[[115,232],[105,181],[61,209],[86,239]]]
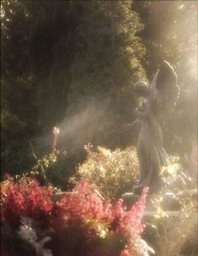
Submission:
[[[150,85],[150,101],[153,101],[153,110],[160,123],[169,119],[178,99],[177,74],[168,62],[163,61]]]

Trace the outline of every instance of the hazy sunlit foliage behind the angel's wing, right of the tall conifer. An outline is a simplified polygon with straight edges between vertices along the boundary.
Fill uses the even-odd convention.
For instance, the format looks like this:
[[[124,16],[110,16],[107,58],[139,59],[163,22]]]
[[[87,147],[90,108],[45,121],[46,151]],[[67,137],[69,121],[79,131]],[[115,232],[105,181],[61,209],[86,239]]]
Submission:
[[[171,155],[184,161],[197,137],[197,2],[134,1],[132,6],[144,24],[138,35],[147,49],[147,76],[152,78],[164,59],[178,74],[179,102],[163,137]]]

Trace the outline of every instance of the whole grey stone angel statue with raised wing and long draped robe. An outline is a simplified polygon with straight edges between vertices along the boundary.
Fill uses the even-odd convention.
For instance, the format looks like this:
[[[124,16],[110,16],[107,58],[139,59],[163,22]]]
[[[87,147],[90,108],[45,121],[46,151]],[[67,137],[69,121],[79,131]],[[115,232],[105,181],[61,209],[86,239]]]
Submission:
[[[136,107],[136,120],[140,128],[137,156],[140,163],[140,179],[134,185],[134,193],[141,193],[148,186],[150,191],[158,187],[162,166],[167,165],[169,156],[163,149],[162,124],[168,119],[179,98],[177,74],[166,61],[161,63],[150,86],[139,81],[134,84],[136,93],[143,97]]]

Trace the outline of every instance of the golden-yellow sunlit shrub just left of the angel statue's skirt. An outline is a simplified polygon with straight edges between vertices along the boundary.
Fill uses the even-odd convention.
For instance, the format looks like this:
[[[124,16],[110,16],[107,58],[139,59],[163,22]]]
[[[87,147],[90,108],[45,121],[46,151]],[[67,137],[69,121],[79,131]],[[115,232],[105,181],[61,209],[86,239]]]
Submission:
[[[101,193],[109,199],[118,199],[122,193],[131,190],[139,175],[139,162],[133,147],[126,150],[106,150],[99,152],[85,146],[88,160],[78,166],[77,174],[88,182],[95,183]],[[72,177],[72,181],[75,177]]]

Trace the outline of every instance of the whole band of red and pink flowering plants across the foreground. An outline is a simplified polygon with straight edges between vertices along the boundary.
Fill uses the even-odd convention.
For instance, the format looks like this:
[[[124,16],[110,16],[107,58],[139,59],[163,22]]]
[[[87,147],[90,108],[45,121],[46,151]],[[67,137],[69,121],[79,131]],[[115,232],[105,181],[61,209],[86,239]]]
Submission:
[[[138,244],[142,242],[142,215],[147,188],[129,211],[123,206],[122,199],[112,206],[110,201],[99,197],[94,185],[84,181],[59,200],[53,200],[52,195],[52,188],[40,188],[35,180],[28,178],[19,182],[10,179],[3,186],[1,221],[13,233],[15,231],[13,240],[21,239],[29,243],[35,248],[35,255],[39,255],[38,250],[43,252],[42,255],[54,256],[144,255],[142,246]],[[30,218],[31,225],[27,221],[24,224],[24,217],[25,220]],[[10,240],[5,239],[6,236],[5,231],[3,241],[6,244],[3,248],[7,253],[4,255],[13,255],[8,253]],[[47,241],[45,248],[43,241]],[[44,253],[46,249],[48,254]]]

